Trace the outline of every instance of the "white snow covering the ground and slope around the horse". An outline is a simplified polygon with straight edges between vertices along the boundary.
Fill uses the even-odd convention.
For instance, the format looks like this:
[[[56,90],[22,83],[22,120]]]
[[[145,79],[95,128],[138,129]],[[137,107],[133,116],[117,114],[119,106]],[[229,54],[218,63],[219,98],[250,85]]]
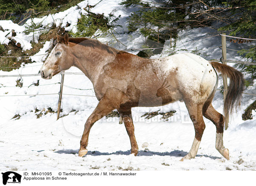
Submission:
[[[115,15],[121,15],[118,24],[119,28],[116,38],[127,47],[114,43],[111,36],[98,38],[102,42],[112,41],[112,46],[118,49],[140,48],[143,44],[143,37],[137,33],[126,33],[125,18],[131,13],[131,9],[125,9],[118,5],[120,0],[103,0],[91,9],[95,13],[108,14],[115,9]],[[49,26],[55,19],[56,24],[66,25],[70,23],[67,30],[76,31],[76,21],[83,12],[88,1],[60,12],[56,15],[34,19],[42,22],[42,25]],[[95,4],[90,0],[89,4]],[[53,17],[53,19],[52,19]],[[57,21],[58,20],[58,21]],[[29,20],[27,21],[29,24]],[[3,37],[11,29],[17,32],[24,45],[23,49],[31,48],[32,33],[25,35],[24,26],[17,26],[10,21],[0,21],[5,29],[0,31],[0,43],[8,43]],[[36,33],[39,37],[41,31]],[[180,31],[176,49],[187,49],[189,51],[202,49],[207,59],[221,57],[221,38],[209,28],[187,29]],[[213,37],[212,37],[213,36]],[[8,36],[6,36],[8,37]],[[169,41],[166,41],[165,48],[161,55],[168,55]],[[227,43],[227,48],[240,49],[241,44]],[[49,42],[38,54],[44,54],[49,48]],[[136,51],[134,52],[136,53]],[[228,51],[228,59],[240,59],[234,51]],[[37,74],[44,57],[33,57],[32,64],[26,64],[11,72],[0,71],[0,75],[14,74]],[[230,64],[232,65],[232,64]],[[81,72],[75,67],[66,72]],[[44,80],[40,76],[22,77],[23,87],[15,87],[17,77],[0,78],[0,170],[255,170],[256,169],[256,112],[253,111],[253,119],[243,121],[241,115],[253,101],[255,96],[243,95],[241,108],[233,115],[229,128],[224,131],[224,145],[229,148],[230,160],[225,160],[215,149],[215,125],[207,119],[206,129],[195,159],[180,162],[191,148],[195,131],[192,122],[188,119],[188,113],[184,103],[173,103],[163,107],[154,108],[133,108],[135,136],[140,148],[137,157],[130,155],[130,141],[125,126],[119,125],[118,118],[103,118],[93,125],[90,131],[88,154],[85,157],[78,157],[79,142],[84,129],[84,123],[98,101],[94,96],[93,86],[84,75],[65,75],[62,97],[61,117],[56,121],[56,113],[44,113],[47,108],[57,110],[58,91],[60,75],[54,76],[51,80]],[[39,86],[31,85],[37,83]],[[256,82],[254,81],[254,86]],[[30,86],[31,85],[31,86]],[[219,86],[221,85],[221,79]],[[30,87],[29,87],[30,86]],[[78,88],[78,89],[73,89]],[[79,90],[89,89],[89,90]],[[255,93],[253,86],[245,90],[248,93]],[[12,96],[12,95],[38,95],[38,96]],[[71,96],[65,94],[83,95]],[[212,105],[222,113],[223,97],[219,91],[215,94]],[[39,111],[38,111],[39,110]],[[43,110],[43,111],[42,111]],[[75,111],[74,111],[75,110]],[[142,116],[146,112],[160,110],[167,112],[176,110],[174,116],[168,121],[155,116],[149,120]],[[36,112],[36,113],[35,113]],[[36,114],[42,112],[37,118]],[[12,119],[15,115],[18,117]],[[148,146],[142,147],[143,143]],[[144,146],[144,145],[143,145]]]

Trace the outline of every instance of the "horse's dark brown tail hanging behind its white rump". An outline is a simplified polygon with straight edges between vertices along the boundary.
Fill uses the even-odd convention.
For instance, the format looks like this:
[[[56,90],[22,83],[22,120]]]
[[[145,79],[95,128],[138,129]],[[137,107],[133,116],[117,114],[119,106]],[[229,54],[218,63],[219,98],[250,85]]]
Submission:
[[[225,130],[228,128],[228,119],[233,112],[233,108],[240,105],[242,92],[244,90],[244,76],[241,72],[226,64],[211,62],[212,67],[219,73],[230,79],[229,89],[224,101],[224,122]]]

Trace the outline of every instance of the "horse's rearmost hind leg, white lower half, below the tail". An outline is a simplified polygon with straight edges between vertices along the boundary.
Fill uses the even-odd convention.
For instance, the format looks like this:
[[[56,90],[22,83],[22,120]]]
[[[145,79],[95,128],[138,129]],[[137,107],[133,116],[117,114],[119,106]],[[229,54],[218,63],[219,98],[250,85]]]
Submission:
[[[204,117],[211,120],[216,126],[216,143],[215,147],[224,156],[229,160],[229,151],[223,145],[223,128],[224,128],[224,116],[218,113],[213,107],[212,104],[204,105],[203,114]]]

